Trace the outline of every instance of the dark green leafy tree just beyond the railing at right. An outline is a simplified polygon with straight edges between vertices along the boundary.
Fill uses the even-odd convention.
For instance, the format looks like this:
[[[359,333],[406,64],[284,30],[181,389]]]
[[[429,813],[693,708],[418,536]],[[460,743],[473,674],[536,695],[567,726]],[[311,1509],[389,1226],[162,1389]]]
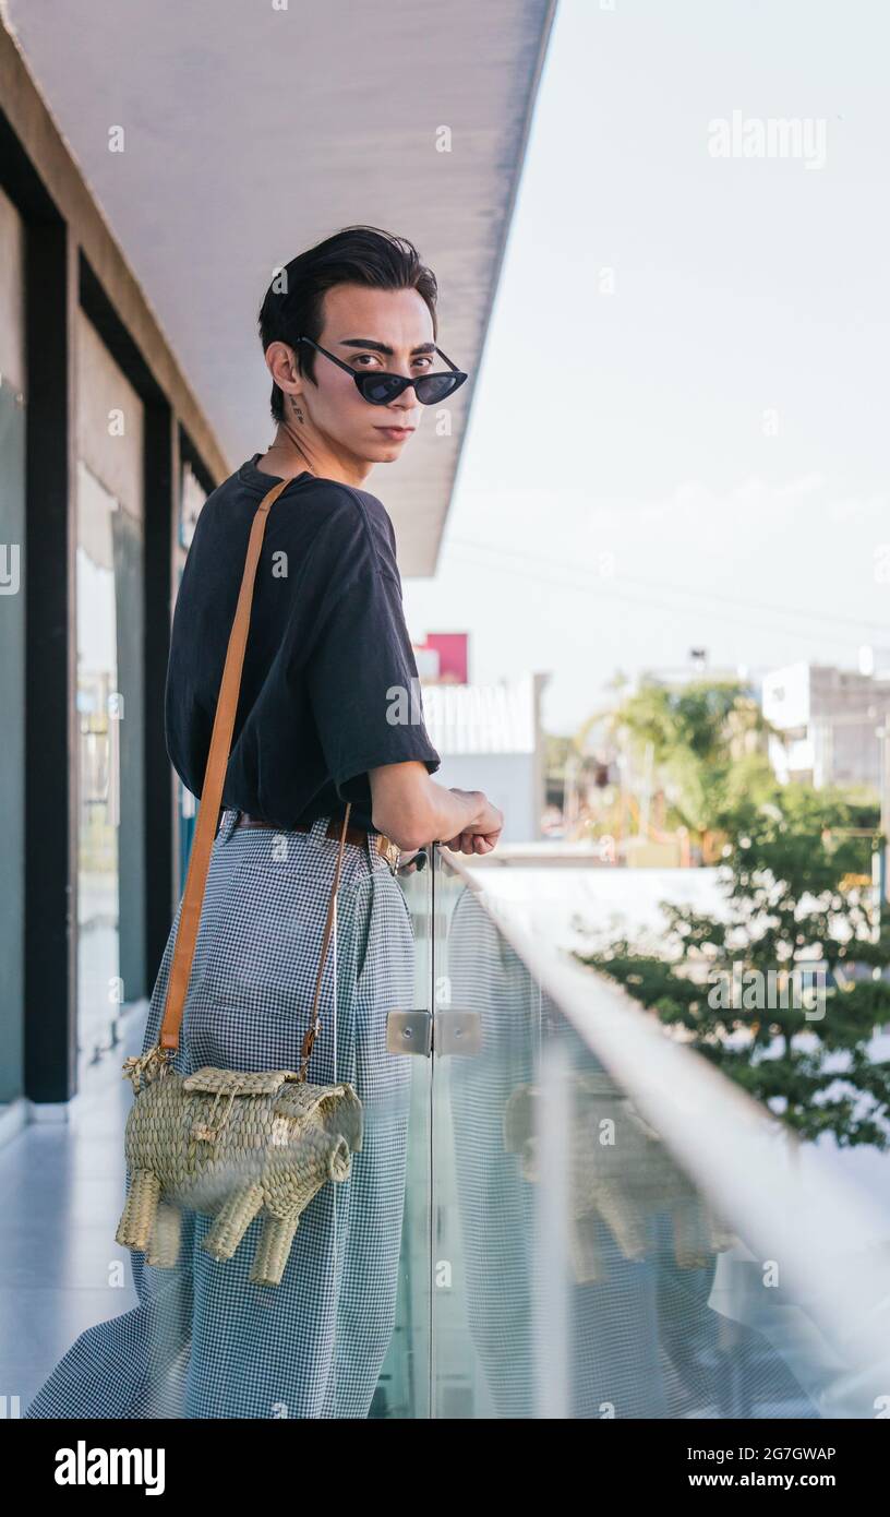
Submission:
[[[778,1124],[804,1139],[831,1132],[840,1147],[885,1150],[890,1060],[875,1060],[869,1044],[890,1022],[890,930],[864,883],[876,830],[852,836],[860,821],[861,806],[837,790],[790,784],[769,801],[741,798],[723,815],[732,840],[719,916],[664,901],[658,951],[622,936],[578,957]],[[793,975],[807,965],[819,978],[814,994],[798,995]]]

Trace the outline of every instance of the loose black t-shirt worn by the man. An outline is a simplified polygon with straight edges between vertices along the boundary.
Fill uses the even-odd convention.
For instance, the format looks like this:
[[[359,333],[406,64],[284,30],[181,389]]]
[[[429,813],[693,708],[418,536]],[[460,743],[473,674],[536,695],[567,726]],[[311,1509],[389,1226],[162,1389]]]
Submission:
[[[167,752],[200,796],[250,523],[274,475],[259,454],[208,496],[173,614]],[[223,806],[277,827],[343,816],[371,825],[367,771],[440,755],[423,724],[385,507],[297,475],[273,502],[256,567]]]

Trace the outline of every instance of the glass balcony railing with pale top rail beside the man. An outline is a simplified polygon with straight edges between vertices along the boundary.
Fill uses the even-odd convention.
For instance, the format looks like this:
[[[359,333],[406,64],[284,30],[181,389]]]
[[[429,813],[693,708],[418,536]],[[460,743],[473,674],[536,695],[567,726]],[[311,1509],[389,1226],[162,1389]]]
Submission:
[[[885,1215],[491,874],[428,857],[381,1414],[885,1417]]]

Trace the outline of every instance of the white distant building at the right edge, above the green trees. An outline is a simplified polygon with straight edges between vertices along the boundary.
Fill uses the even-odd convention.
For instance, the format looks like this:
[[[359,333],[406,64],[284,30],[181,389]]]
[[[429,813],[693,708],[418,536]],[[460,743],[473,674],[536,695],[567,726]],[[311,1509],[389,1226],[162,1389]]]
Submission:
[[[776,777],[881,787],[878,728],[890,715],[890,677],[801,663],[763,678],[763,715],[779,728],[769,755]]]

